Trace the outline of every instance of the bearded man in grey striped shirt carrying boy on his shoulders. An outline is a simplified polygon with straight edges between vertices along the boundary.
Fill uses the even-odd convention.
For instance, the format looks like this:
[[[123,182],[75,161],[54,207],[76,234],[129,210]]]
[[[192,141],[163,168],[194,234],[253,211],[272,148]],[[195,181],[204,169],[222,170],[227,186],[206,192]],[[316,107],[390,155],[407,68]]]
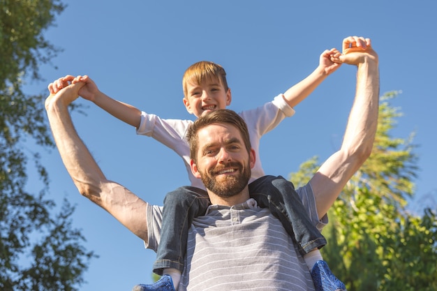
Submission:
[[[378,56],[370,40],[345,38],[343,55],[336,61],[357,66],[357,91],[341,149],[309,184],[297,189],[316,225],[327,222],[327,210],[370,155],[378,123]],[[110,212],[149,248],[156,248],[160,209],[108,181],[75,132],[67,106],[77,98],[80,86],[69,85],[46,100],[64,165],[82,195]],[[191,129],[189,139],[191,170],[205,183],[213,205],[191,226],[179,290],[313,290],[309,271],[281,223],[249,200],[246,177],[256,157],[244,137],[244,126],[208,118],[196,121],[200,126]],[[269,182],[276,181],[286,182]],[[227,237],[219,241],[221,235]]]

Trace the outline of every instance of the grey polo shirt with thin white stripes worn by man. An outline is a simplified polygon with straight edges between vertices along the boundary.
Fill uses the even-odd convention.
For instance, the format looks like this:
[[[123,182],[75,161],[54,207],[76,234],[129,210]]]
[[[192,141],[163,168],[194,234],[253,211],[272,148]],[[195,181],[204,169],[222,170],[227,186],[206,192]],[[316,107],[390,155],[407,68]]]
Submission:
[[[297,189],[311,221],[319,229],[309,184]],[[162,208],[147,209],[149,244],[158,246]],[[233,207],[212,205],[195,218],[180,291],[314,290],[309,269],[281,222],[250,199]]]

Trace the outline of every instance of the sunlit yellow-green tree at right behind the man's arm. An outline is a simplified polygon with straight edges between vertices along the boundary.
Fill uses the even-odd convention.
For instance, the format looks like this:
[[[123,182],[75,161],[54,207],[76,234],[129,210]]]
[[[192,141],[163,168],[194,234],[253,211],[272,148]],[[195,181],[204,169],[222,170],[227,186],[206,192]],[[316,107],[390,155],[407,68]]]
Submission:
[[[329,210],[323,230],[328,244],[325,260],[349,291],[437,290],[437,214],[422,216],[408,211],[417,172],[413,135],[390,136],[401,116],[389,103],[390,92],[380,98],[378,131],[369,159],[350,180]],[[317,158],[291,174],[299,185],[318,167]]]

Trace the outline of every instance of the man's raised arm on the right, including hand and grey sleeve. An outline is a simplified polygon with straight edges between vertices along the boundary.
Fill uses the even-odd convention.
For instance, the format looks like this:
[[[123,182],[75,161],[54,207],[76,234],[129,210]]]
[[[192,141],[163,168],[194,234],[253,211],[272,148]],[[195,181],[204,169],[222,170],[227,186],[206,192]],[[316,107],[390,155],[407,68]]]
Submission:
[[[337,61],[357,66],[357,89],[341,149],[323,163],[310,181],[319,218],[369,158],[378,126],[378,54],[373,51],[370,39],[345,38],[343,54]]]

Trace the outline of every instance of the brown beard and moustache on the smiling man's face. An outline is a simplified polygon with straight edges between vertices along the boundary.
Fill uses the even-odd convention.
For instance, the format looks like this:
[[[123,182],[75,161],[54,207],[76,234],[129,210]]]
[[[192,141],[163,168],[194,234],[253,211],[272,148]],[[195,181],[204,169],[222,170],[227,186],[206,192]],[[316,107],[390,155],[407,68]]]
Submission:
[[[217,181],[216,173],[223,170],[225,167],[237,168],[240,172],[238,175],[225,176],[224,179]],[[249,183],[251,178],[251,167],[247,163],[246,167],[243,167],[241,163],[228,163],[226,165],[215,167],[208,172],[200,171],[200,176],[205,187],[220,197],[232,197],[241,193]],[[223,177],[224,175],[222,175]]]

